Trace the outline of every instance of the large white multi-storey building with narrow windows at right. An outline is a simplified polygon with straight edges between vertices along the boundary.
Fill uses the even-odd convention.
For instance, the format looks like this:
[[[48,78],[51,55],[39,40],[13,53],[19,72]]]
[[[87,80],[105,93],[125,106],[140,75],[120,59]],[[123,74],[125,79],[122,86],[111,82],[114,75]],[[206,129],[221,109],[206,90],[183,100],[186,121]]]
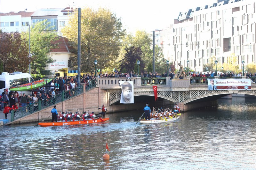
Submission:
[[[235,54],[241,69],[242,61],[255,63],[255,23],[254,0],[219,0],[180,12],[174,25],[161,31],[164,56],[176,68],[189,60],[189,68],[202,71],[211,56],[222,64]]]

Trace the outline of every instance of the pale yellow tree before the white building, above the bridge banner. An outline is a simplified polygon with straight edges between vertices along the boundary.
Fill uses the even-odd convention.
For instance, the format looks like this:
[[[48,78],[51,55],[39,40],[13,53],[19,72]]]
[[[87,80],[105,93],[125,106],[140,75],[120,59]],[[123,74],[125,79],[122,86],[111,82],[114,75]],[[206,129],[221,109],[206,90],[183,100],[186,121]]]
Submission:
[[[239,66],[237,64],[237,57],[235,56],[235,54],[232,54],[230,56],[228,56],[227,58],[227,62],[223,63],[223,72],[230,72],[230,71],[234,71],[235,73],[240,72],[239,70]],[[217,64],[218,67],[218,64]],[[221,66],[218,67],[218,70],[221,70]]]

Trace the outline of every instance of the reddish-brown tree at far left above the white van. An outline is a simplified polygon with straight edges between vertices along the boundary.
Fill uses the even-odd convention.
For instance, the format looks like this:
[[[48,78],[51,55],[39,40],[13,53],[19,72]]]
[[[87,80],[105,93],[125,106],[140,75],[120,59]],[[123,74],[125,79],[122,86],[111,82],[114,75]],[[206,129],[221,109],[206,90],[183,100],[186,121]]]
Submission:
[[[28,71],[28,46],[20,33],[2,33],[0,35],[0,59],[3,71]]]

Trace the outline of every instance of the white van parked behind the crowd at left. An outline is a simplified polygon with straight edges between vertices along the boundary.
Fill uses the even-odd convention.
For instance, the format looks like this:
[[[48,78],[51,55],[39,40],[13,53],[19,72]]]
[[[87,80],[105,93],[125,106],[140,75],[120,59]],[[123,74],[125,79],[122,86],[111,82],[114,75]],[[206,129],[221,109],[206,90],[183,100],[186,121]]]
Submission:
[[[0,94],[2,94],[2,92],[4,92],[4,89],[8,89],[8,92],[9,92],[10,87],[23,85],[23,84],[30,83],[33,81],[34,81],[34,79],[28,73],[2,72],[2,74],[0,75]],[[26,95],[31,94],[31,92],[19,92],[19,96],[22,96],[22,93],[25,93]]]

